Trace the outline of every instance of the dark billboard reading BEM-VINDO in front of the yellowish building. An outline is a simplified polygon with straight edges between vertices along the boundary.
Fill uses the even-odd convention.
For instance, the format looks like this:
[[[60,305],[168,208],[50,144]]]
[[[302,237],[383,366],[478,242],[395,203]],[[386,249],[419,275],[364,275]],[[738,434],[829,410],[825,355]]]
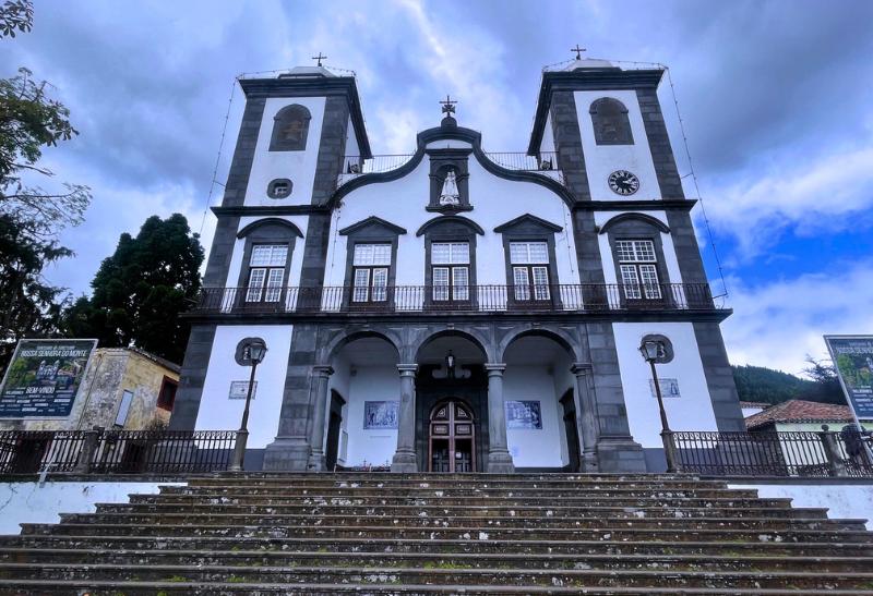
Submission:
[[[23,339],[0,386],[0,418],[65,417],[96,339]]]

